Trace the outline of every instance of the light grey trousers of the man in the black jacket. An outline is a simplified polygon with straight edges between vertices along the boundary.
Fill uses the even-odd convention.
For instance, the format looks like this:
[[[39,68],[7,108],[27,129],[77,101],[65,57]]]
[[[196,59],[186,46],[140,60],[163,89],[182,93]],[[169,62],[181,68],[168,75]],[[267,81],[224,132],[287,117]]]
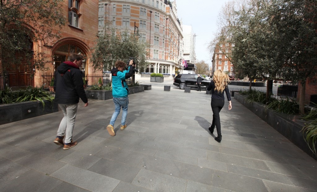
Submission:
[[[64,113],[60,126],[57,130],[57,136],[63,136],[65,133],[65,143],[71,143],[73,137],[73,130],[77,114],[78,103],[76,104],[58,104]]]

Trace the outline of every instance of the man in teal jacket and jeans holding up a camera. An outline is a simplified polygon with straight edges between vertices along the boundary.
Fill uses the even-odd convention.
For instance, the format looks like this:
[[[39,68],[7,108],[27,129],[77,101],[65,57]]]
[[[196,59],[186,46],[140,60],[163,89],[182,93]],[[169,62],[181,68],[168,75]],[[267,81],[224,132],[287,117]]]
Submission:
[[[111,136],[115,136],[113,129],[114,122],[116,121],[120,109],[122,107],[122,118],[121,118],[121,130],[126,128],[126,115],[128,114],[129,104],[129,88],[126,84],[126,79],[133,75],[133,60],[129,62],[129,68],[125,70],[126,63],[124,61],[116,61],[115,68],[111,70],[112,75],[112,96],[114,103],[114,113],[112,114],[110,124],[107,126],[107,131]]]

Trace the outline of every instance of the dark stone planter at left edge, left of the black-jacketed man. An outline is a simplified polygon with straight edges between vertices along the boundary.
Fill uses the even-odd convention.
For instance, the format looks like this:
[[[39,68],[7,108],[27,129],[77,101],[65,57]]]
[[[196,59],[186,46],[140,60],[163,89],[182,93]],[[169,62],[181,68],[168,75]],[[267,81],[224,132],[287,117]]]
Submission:
[[[24,101],[0,105],[0,125],[37,117],[52,112],[58,112],[58,104],[44,100],[45,106],[40,101]]]

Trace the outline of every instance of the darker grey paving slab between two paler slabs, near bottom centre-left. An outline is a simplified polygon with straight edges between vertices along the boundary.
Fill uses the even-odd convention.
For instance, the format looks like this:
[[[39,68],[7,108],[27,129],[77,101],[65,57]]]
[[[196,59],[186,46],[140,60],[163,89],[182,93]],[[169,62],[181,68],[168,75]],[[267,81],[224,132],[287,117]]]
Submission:
[[[140,168],[108,159],[100,159],[88,170],[131,183],[134,177],[139,173]]]

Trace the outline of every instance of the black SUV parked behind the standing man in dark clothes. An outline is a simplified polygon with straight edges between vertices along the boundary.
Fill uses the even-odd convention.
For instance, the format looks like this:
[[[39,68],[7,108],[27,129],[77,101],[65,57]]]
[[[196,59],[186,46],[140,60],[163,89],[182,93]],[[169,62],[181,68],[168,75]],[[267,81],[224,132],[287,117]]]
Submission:
[[[194,89],[197,89],[197,77],[198,74],[178,74],[175,78],[174,78],[174,83],[173,85],[178,86],[180,89],[185,89],[185,87],[191,87]],[[202,81],[201,81],[201,89],[207,89],[210,81],[204,79],[204,77],[202,77],[200,75]]]

